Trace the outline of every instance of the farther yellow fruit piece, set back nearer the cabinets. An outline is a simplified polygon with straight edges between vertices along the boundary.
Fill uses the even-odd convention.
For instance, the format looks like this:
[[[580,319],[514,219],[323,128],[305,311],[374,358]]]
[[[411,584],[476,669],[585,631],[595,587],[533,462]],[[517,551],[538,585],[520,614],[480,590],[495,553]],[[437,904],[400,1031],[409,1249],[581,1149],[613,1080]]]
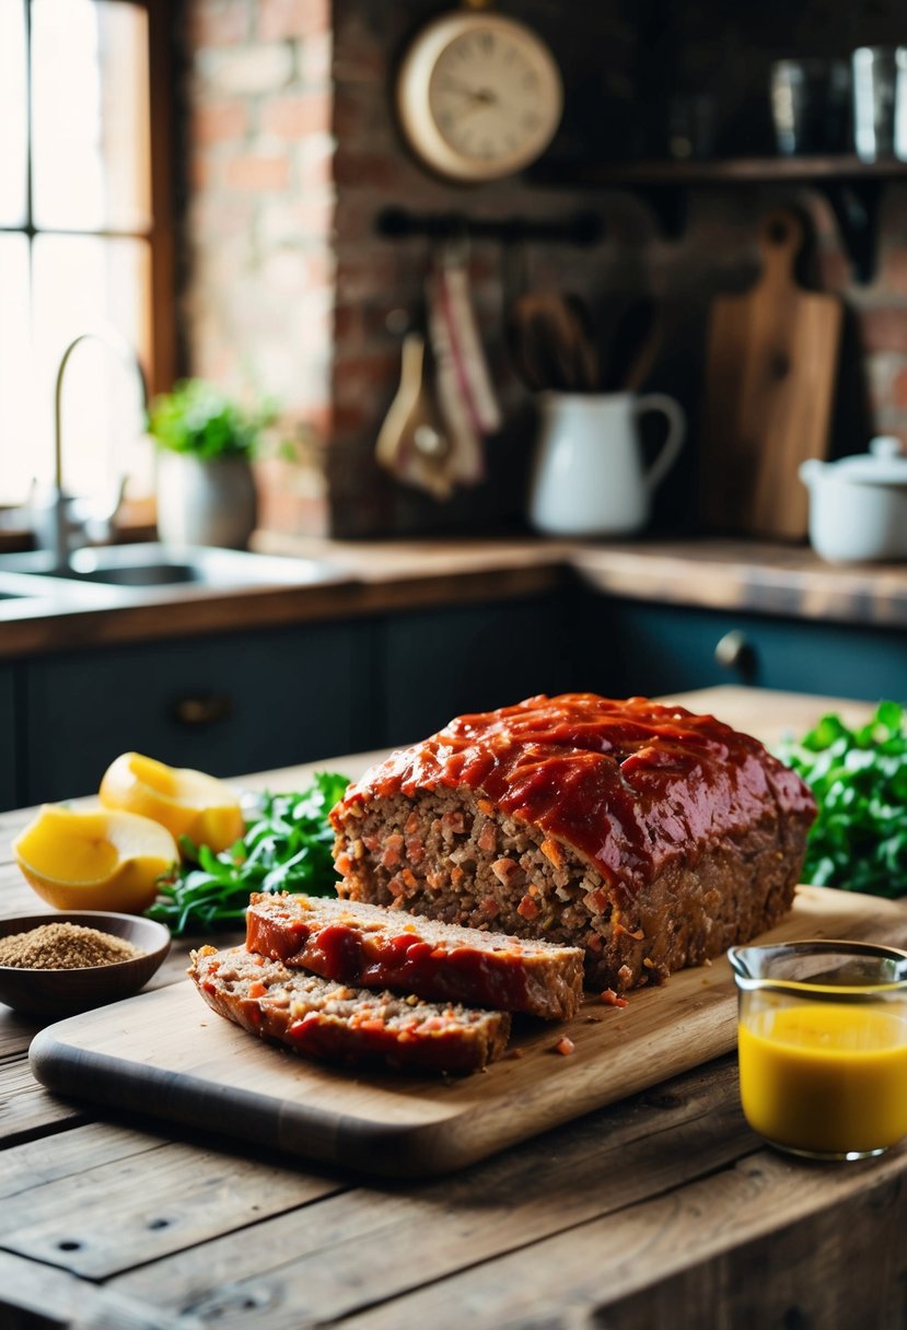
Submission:
[[[203,771],[166,766],[122,753],[104,773],[101,803],[153,818],[174,837],[188,835],[219,854],[246,830],[237,794]]]

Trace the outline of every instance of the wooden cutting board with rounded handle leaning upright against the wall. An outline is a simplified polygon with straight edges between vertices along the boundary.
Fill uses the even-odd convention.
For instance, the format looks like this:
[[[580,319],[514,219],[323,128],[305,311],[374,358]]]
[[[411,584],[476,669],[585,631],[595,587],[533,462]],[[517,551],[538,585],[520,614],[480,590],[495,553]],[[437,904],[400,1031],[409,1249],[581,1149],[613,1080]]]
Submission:
[[[700,489],[713,529],[791,540],[807,532],[798,467],[827,452],[842,305],[798,286],[802,241],[795,213],[771,213],[759,230],[759,281],[712,306]]]

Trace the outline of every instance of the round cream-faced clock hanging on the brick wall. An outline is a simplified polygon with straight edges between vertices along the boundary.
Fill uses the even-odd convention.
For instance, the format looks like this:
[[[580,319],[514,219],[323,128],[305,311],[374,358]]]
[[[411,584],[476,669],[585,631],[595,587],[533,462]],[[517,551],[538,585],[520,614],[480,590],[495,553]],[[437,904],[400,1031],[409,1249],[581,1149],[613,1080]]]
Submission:
[[[564,89],[548,45],[525,24],[463,8],[423,28],[396,76],[403,134],[448,180],[511,176],[551,142]]]

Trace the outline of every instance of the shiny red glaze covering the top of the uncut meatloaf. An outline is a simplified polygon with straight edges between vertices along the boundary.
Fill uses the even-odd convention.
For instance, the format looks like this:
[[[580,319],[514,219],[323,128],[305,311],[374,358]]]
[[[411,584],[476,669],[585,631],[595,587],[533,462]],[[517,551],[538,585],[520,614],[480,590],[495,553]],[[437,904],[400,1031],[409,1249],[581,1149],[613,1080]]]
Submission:
[[[392,753],[334,809],[467,786],[634,891],[673,859],[706,853],[763,821],[815,817],[799,777],[749,734],[642,697],[531,697],[459,716]]]

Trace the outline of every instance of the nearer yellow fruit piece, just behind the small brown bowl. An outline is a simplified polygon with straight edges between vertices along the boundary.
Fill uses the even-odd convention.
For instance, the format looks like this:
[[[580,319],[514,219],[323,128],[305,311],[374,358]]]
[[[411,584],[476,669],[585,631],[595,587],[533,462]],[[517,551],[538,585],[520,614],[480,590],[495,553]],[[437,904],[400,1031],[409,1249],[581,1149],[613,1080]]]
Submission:
[[[180,858],[160,822],[110,809],[45,803],[12,843],[16,863],[39,896],[57,910],[141,914],[157,878]]]

